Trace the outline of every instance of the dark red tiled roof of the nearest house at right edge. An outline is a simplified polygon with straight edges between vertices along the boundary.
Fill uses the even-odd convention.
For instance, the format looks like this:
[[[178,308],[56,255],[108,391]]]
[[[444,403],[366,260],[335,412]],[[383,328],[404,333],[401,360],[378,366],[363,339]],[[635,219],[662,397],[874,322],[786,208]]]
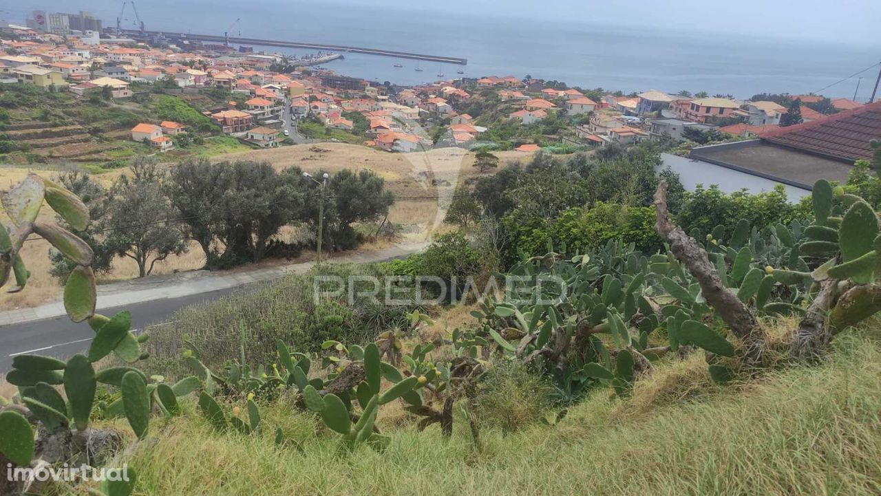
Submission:
[[[762,139],[803,152],[852,161],[870,159],[869,142],[877,137],[881,137],[881,101],[774,130]]]

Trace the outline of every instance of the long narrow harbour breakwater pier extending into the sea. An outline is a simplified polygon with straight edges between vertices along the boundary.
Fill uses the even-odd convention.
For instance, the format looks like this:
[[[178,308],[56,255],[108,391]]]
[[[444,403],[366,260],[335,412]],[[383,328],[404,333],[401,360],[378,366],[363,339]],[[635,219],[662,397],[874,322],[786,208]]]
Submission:
[[[431,56],[426,54],[415,54],[411,52],[399,52],[395,50],[382,50],[380,48],[363,48],[363,47],[347,47],[344,45],[325,45],[322,43],[302,43],[299,41],[279,41],[279,40],[260,40],[257,38],[241,38],[235,36],[216,36],[213,34],[193,34],[193,33],[169,33],[167,31],[136,31],[122,30],[122,33],[135,37],[144,38],[152,36],[165,36],[173,40],[198,40],[198,41],[214,41],[218,43],[235,43],[237,45],[263,45],[266,47],[286,47],[286,48],[307,48],[312,50],[324,50],[335,52],[348,52],[354,54],[367,54],[371,56],[389,56],[395,58],[409,58],[413,60],[421,60],[425,62],[439,63],[455,63],[458,65],[467,65],[468,59],[449,56]]]

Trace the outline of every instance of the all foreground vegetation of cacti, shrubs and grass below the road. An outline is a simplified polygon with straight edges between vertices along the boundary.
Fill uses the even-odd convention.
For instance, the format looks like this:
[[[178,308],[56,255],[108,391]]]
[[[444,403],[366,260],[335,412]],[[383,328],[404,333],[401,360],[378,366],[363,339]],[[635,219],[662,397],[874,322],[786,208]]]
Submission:
[[[642,172],[650,151],[618,153],[600,162],[539,156],[487,177],[485,188],[504,188],[482,190],[481,225],[489,233],[525,211],[557,222],[582,208],[570,220],[598,226],[618,207],[641,226],[653,211],[663,241],[655,253],[622,241],[630,234],[621,231],[587,253],[562,255],[552,245],[523,255],[507,267],[506,292],[486,293],[455,329],[438,329],[424,313],[433,308],[381,304],[375,286],[362,291],[361,283],[373,285],[363,276],[417,271],[452,288],[485,267],[479,250],[498,246],[451,233],[414,259],[326,263],[307,277],[185,309],[149,329],[149,341],[130,331],[127,312],[94,313],[88,244],[37,221],[45,201],[87,232],[89,207],[27,176],[0,198],[14,228],[11,236],[0,229],[2,281],[26,285],[19,249],[32,233],[43,236],[76,263],[64,304],[96,334],[88,352],[67,361],[15,357],[6,380],[19,390],[0,401],[0,462],[135,467],[137,480],[122,487],[38,488],[107,496],[271,494],[291,484],[306,493],[401,492],[402,484],[468,494],[876,493],[881,225],[870,203],[820,180],[810,211],[796,207],[786,225],[739,218],[731,229],[689,235],[670,211],[666,178]],[[607,181],[603,167],[612,163],[655,183],[650,204],[640,204],[648,187],[639,181],[621,195],[586,187]],[[545,185],[559,197],[537,197]],[[358,196],[377,188],[369,174],[349,172],[329,186],[337,223],[381,208],[382,195]],[[874,181],[863,177],[854,188],[872,190]],[[364,204],[338,203],[356,196]],[[762,209],[778,201],[698,196],[675,200],[695,219],[714,216],[695,205],[746,203],[758,211],[755,222],[773,217]],[[408,285],[395,280],[395,289]],[[135,364],[149,367],[149,379]],[[122,450],[114,418],[150,441]],[[225,458],[241,462],[220,474]],[[537,467],[537,459],[553,463]],[[179,464],[188,477],[167,477]],[[21,489],[5,484],[4,492]]]

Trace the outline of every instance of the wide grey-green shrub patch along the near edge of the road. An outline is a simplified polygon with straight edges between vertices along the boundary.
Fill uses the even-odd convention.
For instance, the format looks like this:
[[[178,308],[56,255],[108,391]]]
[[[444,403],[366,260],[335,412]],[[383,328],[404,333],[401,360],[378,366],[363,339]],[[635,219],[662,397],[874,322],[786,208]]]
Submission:
[[[354,275],[380,277],[386,273],[377,265],[325,263],[306,275],[290,275],[183,308],[169,322],[149,329],[150,340],[145,343],[146,351],[151,353],[149,365],[156,366],[154,370],[159,374],[182,374],[184,339],[196,347],[205,365],[222,365],[238,356],[241,332],[245,333],[247,361],[253,366],[277,360],[278,339],[283,339],[292,351],[310,353],[320,352],[328,339],[348,344],[373,341],[385,325],[403,325],[403,314],[415,306],[377,305],[366,297],[356,298],[351,305],[347,301],[348,286],[342,296],[322,296],[316,303],[315,285],[319,291],[334,286],[315,277],[336,276],[347,281]],[[357,297],[362,289],[359,285],[352,291]]]

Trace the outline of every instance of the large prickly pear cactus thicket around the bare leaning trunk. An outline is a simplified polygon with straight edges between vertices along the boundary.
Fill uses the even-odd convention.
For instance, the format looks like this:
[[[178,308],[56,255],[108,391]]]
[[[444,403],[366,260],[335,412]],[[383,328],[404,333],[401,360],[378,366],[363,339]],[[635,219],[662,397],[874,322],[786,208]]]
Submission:
[[[665,214],[663,186],[658,190]],[[609,241],[591,255],[526,258],[511,275],[544,273],[566,285],[535,285],[527,301],[485,300],[476,313],[479,329],[501,355],[549,374],[563,397],[579,396],[590,381],[629,396],[636,378],[652,370],[651,359],[685,346],[705,350],[709,374],[729,381],[741,366],[766,364],[774,347],[760,332],[757,313],[803,315],[788,352],[815,358],[834,334],[881,310],[881,289],[873,284],[881,235],[869,204],[825,180],[814,185],[812,207],[810,226],[758,231],[741,218],[732,231],[716,226],[706,244],[659,214],[658,233],[674,251],[650,257],[633,244]],[[767,263],[769,257],[782,267]],[[656,329],[668,344],[650,344]],[[602,334],[614,348],[597,339]]]

